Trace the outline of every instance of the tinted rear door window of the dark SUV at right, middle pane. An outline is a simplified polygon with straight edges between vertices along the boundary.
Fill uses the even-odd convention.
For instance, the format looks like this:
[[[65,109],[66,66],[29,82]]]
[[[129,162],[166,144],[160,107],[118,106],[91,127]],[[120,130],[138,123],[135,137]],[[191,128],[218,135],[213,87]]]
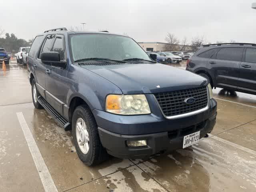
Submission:
[[[244,48],[221,48],[216,56],[216,59],[241,61]]]

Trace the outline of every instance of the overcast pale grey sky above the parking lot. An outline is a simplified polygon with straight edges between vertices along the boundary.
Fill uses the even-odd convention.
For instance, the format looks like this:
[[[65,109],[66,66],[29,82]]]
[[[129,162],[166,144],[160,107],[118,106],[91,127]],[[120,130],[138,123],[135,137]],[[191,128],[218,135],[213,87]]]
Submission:
[[[207,42],[256,42],[256,0],[8,0],[0,26],[26,40],[61,26],[109,30],[136,41],[204,36]]]

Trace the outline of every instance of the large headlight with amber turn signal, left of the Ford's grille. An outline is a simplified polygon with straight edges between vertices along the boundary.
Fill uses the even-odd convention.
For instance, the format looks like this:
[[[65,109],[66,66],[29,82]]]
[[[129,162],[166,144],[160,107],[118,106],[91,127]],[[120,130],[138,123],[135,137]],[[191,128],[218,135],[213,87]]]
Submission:
[[[106,111],[121,115],[150,114],[145,95],[108,95]]]

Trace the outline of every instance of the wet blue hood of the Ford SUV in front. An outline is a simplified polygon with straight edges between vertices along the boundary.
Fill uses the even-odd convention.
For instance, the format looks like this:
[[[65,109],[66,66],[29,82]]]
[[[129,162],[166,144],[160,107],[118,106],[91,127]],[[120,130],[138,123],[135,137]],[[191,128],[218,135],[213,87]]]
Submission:
[[[123,94],[170,92],[207,85],[207,80],[199,75],[160,63],[81,67],[109,80]]]

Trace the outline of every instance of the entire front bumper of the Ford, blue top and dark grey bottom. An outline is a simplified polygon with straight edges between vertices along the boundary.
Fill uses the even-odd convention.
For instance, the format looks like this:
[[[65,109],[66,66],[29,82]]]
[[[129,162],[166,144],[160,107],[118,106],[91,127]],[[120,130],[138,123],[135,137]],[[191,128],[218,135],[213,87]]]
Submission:
[[[167,119],[162,113],[121,116],[93,110],[93,114],[101,143],[109,154],[118,158],[140,158],[182,148],[183,137],[199,130],[202,138],[215,125],[216,109],[217,102],[211,99],[208,110],[178,119]],[[156,108],[152,111],[156,112]],[[147,140],[148,144],[130,148],[127,140]]]

